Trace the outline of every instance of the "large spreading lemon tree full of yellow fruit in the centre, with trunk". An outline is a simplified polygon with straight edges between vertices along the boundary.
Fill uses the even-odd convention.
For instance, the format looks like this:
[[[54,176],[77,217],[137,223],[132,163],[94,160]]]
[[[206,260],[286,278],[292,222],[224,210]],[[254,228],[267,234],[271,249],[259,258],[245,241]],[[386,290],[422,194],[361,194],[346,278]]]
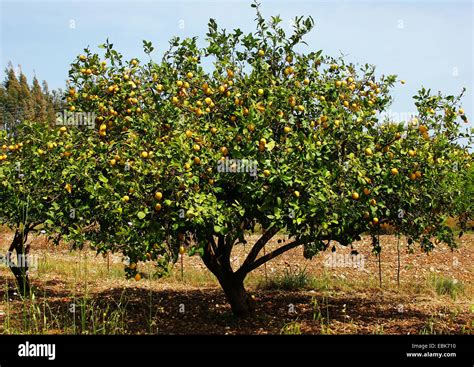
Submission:
[[[286,35],[254,7],[255,32],[210,20],[205,47],[174,38],[159,62],[147,41],[147,62],[108,41],[103,56],[85,49],[73,62],[69,109],[97,118],[77,135],[49,230],[123,253],[137,280],[140,261],[163,273],[180,251],[198,254],[237,316],[254,306],[247,274],[295,247],[312,257],[384,223],[427,251],[434,238],[454,246],[444,220],[459,214],[453,183],[472,161],[462,95],[422,89],[416,117],[384,120],[396,76],[301,52],[311,18]],[[63,215],[72,207],[82,221]],[[234,267],[232,250],[256,228]],[[288,240],[262,255],[280,231]]]

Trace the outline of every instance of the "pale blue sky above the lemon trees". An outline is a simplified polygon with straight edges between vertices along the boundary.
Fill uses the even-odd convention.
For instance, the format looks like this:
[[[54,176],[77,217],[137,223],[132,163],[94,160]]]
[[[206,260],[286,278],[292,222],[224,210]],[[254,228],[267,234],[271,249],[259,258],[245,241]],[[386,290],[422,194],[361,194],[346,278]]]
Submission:
[[[209,18],[225,28],[251,31],[250,1],[6,1],[1,2],[3,69],[9,61],[51,88],[65,86],[69,64],[86,46],[109,38],[126,57],[144,56],[151,40],[158,60],[172,36],[204,38]],[[279,14],[290,30],[297,15],[316,23],[307,50],[343,53],[352,62],[397,74],[393,114],[414,112],[411,97],[421,87],[457,94],[468,89],[463,107],[474,107],[472,1],[288,1],[261,0],[266,17]],[[471,122],[472,126],[472,122]]]

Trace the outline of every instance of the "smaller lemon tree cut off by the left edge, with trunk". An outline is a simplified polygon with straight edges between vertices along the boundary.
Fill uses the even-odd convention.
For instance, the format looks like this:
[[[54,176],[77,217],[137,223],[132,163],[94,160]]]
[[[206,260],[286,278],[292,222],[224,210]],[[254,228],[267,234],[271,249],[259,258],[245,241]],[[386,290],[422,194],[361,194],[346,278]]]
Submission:
[[[19,124],[14,134],[1,132],[0,220],[14,231],[8,265],[24,294],[29,290],[28,235],[53,223],[56,229],[49,233],[56,239],[73,225],[83,227],[75,222],[75,210],[83,209],[83,201],[72,195],[73,185],[82,177],[73,175],[82,134],[28,121]]]

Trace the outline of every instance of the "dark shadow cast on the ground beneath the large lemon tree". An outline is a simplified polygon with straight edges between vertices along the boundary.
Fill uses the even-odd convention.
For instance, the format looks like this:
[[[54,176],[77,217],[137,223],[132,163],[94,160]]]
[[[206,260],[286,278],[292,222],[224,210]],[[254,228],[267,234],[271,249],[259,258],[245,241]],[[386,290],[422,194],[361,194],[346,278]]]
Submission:
[[[280,334],[284,325],[299,323],[304,325],[304,333],[319,334],[324,323],[332,325],[334,332],[368,333],[368,326],[391,324],[392,330],[385,333],[407,333],[419,329],[432,315],[432,310],[406,308],[397,309],[407,297],[389,295],[381,298],[351,296],[337,293],[328,296],[325,291],[262,291],[255,293],[255,313],[245,319],[232,316],[223,292],[219,288],[189,290],[146,289],[141,287],[109,288],[72,298],[70,290],[58,280],[35,282],[35,301],[47,303],[49,313],[59,315],[56,321],[71,323],[71,304],[76,303],[76,321],[81,317],[81,305],[88,305],[83,318],[97,317],[103,311],[107,316],[120,314],[123,318],[124,333],[151,334]],[[0,303],[10,296],[14,288],[0,289]],[[15,296],[10,309],[20,310],[21,302]],[[15,304],[18,307],[15,308]],[[86,320],[87,321],[87,320]],[[99,320],[100,321],[100,320]],[[453,321],[451,328],[459,330],[464,323],[464,315]],[[360,325],[359,330],[342,327]],[[65,327],[66,328],[66,327]],[[58,325],[58,329],[62,329]],[[78,329],[80,330],[80,329]],[[449,329],[448,329],[449,330]],[[46,331],[47,332],[47,331]]]

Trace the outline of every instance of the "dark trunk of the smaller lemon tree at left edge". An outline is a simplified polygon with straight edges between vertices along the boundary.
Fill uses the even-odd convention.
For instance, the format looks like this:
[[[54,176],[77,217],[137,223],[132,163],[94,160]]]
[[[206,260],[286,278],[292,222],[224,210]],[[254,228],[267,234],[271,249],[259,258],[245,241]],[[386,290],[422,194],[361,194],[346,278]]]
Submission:
[[[27,234],[15,231],[13,241],[8,249],[7,259],[10,270],[15,276],[18,291],[21,295],[27,296],[30,292],[30,281],[28,279],[28,252],[29,247],[23,246],[26,242]],[[12,261],[13,251],[16,252],[16,264]]]

